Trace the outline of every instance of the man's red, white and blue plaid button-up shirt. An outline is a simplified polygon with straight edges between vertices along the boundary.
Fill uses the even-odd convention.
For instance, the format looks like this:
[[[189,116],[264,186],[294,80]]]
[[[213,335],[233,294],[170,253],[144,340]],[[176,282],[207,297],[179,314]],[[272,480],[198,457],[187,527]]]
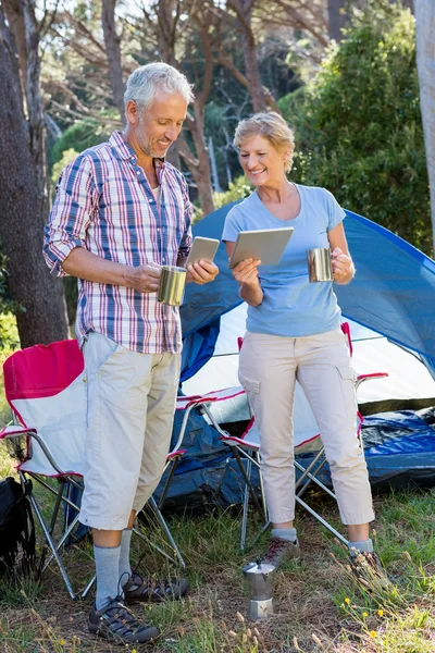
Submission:
[[[74,247],[126,266],[175,266],[190,250],[191,205],[182,173],[156,159],[160,208],[134,150],[121,133],[89,148],[63,171],[45,230],[44,255],[52,272]],[[142,354],[181,352],[176,307],[156,293],[78,280],[76,333],[83,345],[96,331]]]

